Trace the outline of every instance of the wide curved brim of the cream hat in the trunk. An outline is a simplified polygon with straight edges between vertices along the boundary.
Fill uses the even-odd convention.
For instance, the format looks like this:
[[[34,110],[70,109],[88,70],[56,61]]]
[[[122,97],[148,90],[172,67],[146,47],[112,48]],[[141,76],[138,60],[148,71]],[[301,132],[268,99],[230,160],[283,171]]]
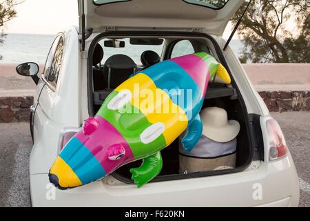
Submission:
[[[211,125],[204,125],[203,135],[215,142],[226,143],[234,140],[240,133],[240,124],[236,120],[229,120],[227,126],[215,128]]]

